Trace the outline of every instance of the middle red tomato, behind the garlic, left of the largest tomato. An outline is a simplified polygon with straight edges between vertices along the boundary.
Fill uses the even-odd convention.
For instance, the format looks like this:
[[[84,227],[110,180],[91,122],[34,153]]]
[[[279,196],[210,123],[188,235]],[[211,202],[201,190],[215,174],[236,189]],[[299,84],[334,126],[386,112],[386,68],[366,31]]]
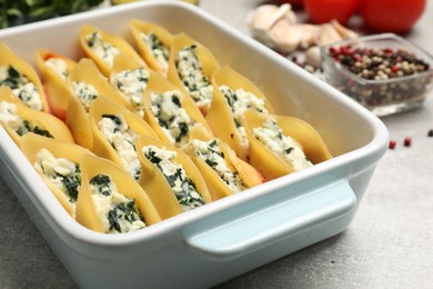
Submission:
[[[356,12],[359,2],[359,0],[304,0],[304,8],[311,20],[316,23],[336,19],[344,24]]]

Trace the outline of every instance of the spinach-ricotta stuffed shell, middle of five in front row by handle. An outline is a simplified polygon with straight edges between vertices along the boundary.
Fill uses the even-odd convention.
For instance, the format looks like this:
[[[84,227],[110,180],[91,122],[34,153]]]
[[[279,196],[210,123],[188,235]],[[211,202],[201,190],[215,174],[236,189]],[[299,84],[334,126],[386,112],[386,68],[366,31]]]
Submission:
[[[202,176],[183,151],[144,134],[139,136],[137,150],[142,166],[140,185],[162,219],[212,201]]]

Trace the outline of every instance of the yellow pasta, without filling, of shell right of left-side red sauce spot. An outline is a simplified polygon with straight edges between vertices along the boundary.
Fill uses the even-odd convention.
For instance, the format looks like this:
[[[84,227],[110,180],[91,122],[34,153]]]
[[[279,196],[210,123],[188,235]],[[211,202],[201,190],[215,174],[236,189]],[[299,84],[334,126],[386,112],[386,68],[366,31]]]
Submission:
[[[72,82],[81,81],[93,86],[99,96],[103,96],[119,106],[130,107],[119,92],[108,82],[107,78],[99,72],[92,60],[83,58],[78,62],[67,79],[69,87],[67,123],[71,129],[75,142],[88,149],[92,149],[93,137],[88,113],[72,91]]]

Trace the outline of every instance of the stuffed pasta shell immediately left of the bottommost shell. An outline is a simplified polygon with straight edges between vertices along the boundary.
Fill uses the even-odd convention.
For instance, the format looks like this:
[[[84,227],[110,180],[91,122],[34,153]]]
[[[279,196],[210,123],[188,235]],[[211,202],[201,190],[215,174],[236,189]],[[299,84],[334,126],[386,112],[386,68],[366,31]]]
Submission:
[[[80,161],[89,151],[74,143],[34,133],[23,136],[20,148],[61,206],[75,218],[81,186]]]

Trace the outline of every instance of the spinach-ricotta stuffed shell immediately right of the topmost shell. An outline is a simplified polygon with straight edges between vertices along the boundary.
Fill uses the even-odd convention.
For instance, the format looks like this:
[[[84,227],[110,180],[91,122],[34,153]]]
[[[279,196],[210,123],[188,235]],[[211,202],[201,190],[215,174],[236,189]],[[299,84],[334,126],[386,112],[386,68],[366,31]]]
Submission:
[[[204,46],[184,33],[173,37],[168,79],[185,89],[204,116],[212,102],[211,76],[216,68],[216,59]]]

